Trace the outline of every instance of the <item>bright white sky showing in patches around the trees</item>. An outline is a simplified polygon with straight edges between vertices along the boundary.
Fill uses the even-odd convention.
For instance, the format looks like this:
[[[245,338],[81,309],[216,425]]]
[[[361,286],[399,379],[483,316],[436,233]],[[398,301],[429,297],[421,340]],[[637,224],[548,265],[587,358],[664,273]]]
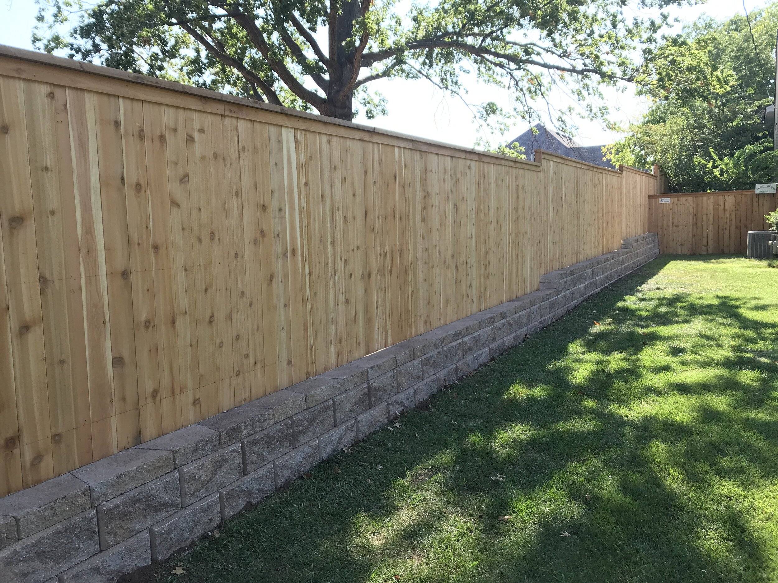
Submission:
[[[745,0],[745,7],[750,11],[765,3],[765,0]],[[709,0],[683,9],[671,9],[668,12],[678,19],[678,23],[674,24],[673,31],[675,31],[680,30],[685,23],[691,23],[703,13],[719,20],[731,18],[743,12],[743,4],[741,0]],[[36,13],[37,7],[34,0],[0,0],[0,44],[32,49],[30,34],[35,26]],[[374,120],[357,117],[355,121],[358,123],[468,148],[473,147],[478,138],[478,123],[468,107],[457,97],[446,95],[427,81],[380,79],[371,83],[370,88],[380,91],[387,98],[389,113]],[[494,100],[505,106],[510,103],[510,95],[493,86],[483,86],[473,82],[467,89],[467,99],[470,103],[482,103],[487,100]],[[647,101],[635,96],[631,88],[628,88],[625,93],[608,91],[605,99],[608,101],[612,120],[625,127],[630,122],[640,120],[640,116],[648,106]],[[566,96],[561,93],[556,94],[553,100],[559,106],[569,103]],[[576,120],[576,125],[578,130],[574,138],[583,145],[608,144],[620,137],[620,134],[608,131],[601,122]],[[509,141],[526,131],[527,127],[526,122],[517,121],[515,127],[512,127],[504,136],[504,141]]]

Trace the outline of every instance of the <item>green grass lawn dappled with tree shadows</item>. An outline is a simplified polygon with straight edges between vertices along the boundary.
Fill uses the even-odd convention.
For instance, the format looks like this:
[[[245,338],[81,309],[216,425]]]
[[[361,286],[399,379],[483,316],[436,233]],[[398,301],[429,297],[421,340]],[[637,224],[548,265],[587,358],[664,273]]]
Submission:
[[[778,581],[776,333],[778,269],[663,256],[156,580]]]

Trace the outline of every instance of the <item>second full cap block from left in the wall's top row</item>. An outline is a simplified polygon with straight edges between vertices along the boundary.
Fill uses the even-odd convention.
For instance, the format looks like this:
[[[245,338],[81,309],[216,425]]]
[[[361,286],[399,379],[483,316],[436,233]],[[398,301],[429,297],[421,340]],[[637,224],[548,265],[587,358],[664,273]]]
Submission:
[[[96,506],[173,470],[173,454],[157,449],[125,449],[113,456],[89,463],[72,474],[89,484],[89,496]]]

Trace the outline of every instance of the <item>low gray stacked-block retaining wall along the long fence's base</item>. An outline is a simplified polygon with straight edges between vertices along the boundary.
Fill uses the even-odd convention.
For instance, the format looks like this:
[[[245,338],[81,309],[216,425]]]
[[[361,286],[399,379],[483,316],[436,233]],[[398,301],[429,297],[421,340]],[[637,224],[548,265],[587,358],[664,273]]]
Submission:
[[[0,498],[2,583],[116,581],[164,560],[657,257],[655,234],[541,289]]]

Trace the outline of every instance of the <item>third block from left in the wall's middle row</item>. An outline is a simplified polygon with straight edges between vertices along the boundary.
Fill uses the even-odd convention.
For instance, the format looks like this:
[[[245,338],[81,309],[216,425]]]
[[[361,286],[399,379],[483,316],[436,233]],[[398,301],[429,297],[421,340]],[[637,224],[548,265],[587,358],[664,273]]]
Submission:
[[[188,506],[244,475],[240,443],[195,459],[178,469],[181,480],[181,506]]]

